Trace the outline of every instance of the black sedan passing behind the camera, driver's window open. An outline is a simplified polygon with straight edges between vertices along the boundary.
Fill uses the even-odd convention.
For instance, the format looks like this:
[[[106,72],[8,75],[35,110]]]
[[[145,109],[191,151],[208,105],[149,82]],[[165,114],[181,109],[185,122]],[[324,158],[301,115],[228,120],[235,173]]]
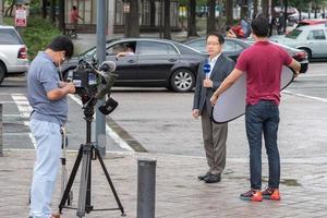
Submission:
[[[134,52],[126,53],[129,47]],[[63,75],[73,70],[78,60],[92,60],[96,48],[73,57],[63,65]],[[207,55],[172,40],[152,38],[112,39],[106,45],[106,60],[114,61],[119,74],[114,86],[167,87],[174,92],[189,92],[195,85],[197,68]]]

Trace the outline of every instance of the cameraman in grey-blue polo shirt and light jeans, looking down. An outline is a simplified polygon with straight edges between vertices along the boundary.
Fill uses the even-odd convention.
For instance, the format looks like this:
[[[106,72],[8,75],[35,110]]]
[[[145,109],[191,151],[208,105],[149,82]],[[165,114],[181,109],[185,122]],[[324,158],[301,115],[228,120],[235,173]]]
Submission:
[[[74,46],[66,36],[56,37],[31,63],[27,95],[33,108],[31,131],[36,140],[36,161],[31,187],[33,218],[58,218],[50,203],[59,168],[62,136],[60,126],[66,121],[66,95],[75,93],[73,83],[60,81],[57,68],[70,59]]]

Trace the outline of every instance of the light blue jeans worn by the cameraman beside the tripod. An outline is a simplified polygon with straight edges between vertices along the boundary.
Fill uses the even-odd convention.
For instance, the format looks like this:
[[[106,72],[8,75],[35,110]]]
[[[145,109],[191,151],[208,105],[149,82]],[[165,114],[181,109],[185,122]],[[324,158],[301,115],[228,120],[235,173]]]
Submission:
[[[49,218],[51,217],[50,204],[60,164],[62,141],[60,125],[53,122],[31,120],[29,128],[36,140],[29,216]]]

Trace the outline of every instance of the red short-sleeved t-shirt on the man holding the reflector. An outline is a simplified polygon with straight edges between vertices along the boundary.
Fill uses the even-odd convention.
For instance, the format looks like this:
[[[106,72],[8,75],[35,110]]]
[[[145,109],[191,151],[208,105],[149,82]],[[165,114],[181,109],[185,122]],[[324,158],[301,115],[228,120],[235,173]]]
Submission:
[[[235,69],[246,72],[246,104],[258,100],[280,102],[280,75],[282,65],[289,65],[292,57],[269,41],[257,41],[245,49]]]

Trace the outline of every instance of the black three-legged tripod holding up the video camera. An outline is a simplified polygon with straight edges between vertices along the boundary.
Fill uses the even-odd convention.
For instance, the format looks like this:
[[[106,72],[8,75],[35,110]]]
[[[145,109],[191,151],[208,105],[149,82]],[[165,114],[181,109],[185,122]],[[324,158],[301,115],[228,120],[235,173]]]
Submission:
[[[68,181],[66,187],[63,192],[61,202],[59,204],[59,213],[61,214],[62,208],[76,209],[76,216],[82,218],[85,216],[85,213],[90,213],[92,210],[121,210],[121,216],[125,216],[124,208],[118,197],[118,194],[114,190],[112,181],[109,177],[109,173],[106,169],[104,160],[100,156],[98,148],[90,142],[90,128],[94,116],[94,106],[96,100],[90,99],[87,101],[84,109],[84,119],[86,120],[86,143],[82,144],[78,150],[77,158],[75,160],[73,170],[71,172],[70,179]],[[113,193],[116,202],[118,204],[118,208],[104,208],[104,209],[94,209],[90,205],[90,172],[92,172],[92,160],[98,159],[101,168],[105,172],[107,181],[110,185],[110,189]],[[82,161],[82,172],[81,172],[81,182],[80,182],[80,194],[78,194],[78,205],[77,208],[65,206],[66,201],[69,201],[70,191],[73,185],[75,175],[77,173],[80,164]]]

